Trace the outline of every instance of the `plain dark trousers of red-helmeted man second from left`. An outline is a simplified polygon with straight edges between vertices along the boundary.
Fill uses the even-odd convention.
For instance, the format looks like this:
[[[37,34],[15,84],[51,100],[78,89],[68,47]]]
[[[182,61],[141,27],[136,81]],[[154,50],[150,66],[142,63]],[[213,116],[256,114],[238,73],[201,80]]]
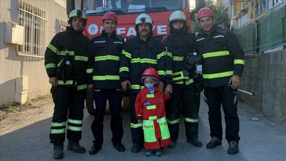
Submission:
[[[103,144],[103,121],[107,100],[111,114],[111,142],[113,144],[121,143],[123,137],[122,95],[122,89],[94,89],[93,100],[96,111],[91,124],[91,131],[94,137],[93,145],[101,146]]]

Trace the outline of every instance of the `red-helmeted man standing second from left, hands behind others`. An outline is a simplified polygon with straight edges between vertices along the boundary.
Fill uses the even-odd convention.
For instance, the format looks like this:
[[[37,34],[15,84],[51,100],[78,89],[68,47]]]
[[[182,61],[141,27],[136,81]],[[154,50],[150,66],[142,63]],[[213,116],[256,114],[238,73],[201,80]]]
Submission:
[[[98,153],[103,144],[103,120],[106,102],[109,102],[111,113],[110,128],[112,131],[113,147],[117,151],[125,151],[121,143],[123,137],[122,95],[123,91],[119,79],[119,60],[123,48],[124,39],[115,34],[117,15],[107,12],[103,18],[101,34],[91,38],[88,45],[90,64],[92,71],[88,74],[88,88],[94,89],[93,100],[95,105],[94,120],[91,131],[94,136],[93,146],[89,154]]]

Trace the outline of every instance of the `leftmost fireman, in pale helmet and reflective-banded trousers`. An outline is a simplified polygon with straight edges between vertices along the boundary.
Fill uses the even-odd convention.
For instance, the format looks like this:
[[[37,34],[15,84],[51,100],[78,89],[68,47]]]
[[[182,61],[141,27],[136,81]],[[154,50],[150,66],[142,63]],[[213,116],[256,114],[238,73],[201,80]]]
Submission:
[[[67,125],[67,150],[84,153],[79,145],[82,137],[84,100],[87,90],[88,39],[82,34],[86,26],[85,13],[76,9],[68,16],[70,27],[57,33],[47,46],[44,65],[55,103],[50,140],[54,158],[63,158],[63,143]]]

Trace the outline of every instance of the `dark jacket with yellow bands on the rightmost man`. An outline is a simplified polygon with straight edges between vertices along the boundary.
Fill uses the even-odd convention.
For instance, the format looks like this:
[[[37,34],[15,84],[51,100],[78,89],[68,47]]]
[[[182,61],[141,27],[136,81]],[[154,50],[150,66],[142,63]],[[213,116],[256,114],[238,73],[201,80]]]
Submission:
[[[213,27],[207,35],[203,30],[196,37],[196,50],[202,54],[203,85],[219,87],[228,84],[233,75],[242,76],[244,52],[236,35]]]

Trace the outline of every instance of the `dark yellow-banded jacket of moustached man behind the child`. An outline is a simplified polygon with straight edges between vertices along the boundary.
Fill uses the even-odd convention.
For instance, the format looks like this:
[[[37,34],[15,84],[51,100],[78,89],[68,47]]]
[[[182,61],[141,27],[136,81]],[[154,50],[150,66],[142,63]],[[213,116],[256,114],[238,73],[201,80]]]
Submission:
[[[148,37],[146,41],[139,36],[129,38],[124,43],[120,57],[120,80],[129,80],[132,93],[139,93],[144,84],[140,82],[140,75],[148,67],[158,71],[160,81],[165,81],[165,59],[162,43],[155,37]]]

